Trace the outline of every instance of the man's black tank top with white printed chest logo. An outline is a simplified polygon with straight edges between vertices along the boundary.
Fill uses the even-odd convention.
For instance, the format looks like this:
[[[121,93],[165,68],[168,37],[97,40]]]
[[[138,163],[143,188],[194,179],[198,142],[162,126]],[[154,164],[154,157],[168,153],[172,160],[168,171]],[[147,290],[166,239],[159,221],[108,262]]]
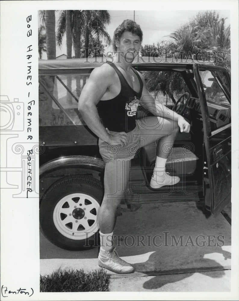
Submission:
[[[132,68],[140,83],[140,91],[137,93],[130,87],[123,74],[112,62],[107,62],[107,64],[113,67],[118,74],[121,90],[115,98],[99,101],[97,104],[98,113],[104,127],[110,131],[130,132],[136,126],[136,113],[143,90],[142,79],[137,71]]]

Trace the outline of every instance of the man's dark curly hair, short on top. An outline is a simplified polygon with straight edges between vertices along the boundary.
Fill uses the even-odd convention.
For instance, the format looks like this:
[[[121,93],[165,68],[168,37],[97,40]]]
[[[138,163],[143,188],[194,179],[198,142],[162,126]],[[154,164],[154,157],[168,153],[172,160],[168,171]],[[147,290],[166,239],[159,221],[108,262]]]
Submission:
[[[125,31],[129,31],[130,33],[139,36],[140,38],[140,43],[143,40],[143,32],[140,28],[140,26],[133,20],[124,20],[114,31],[114,36],[113,36],[113,51],[117,51],[117,47],[115,45],[115,42],[119,42],[119,39],[123,35]]]

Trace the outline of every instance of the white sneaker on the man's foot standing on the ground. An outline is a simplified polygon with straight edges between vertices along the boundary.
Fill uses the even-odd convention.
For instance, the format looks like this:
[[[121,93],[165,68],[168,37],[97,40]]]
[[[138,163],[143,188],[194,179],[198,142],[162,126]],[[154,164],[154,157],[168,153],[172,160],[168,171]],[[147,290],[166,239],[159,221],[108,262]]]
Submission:
[[[107,268],[108,270],[119,274],[128,274],[134,272],[132,265],[119,258],[115,248],[112,248],[109,251],[100,250],[98,256],[98,265],[102,268]]]

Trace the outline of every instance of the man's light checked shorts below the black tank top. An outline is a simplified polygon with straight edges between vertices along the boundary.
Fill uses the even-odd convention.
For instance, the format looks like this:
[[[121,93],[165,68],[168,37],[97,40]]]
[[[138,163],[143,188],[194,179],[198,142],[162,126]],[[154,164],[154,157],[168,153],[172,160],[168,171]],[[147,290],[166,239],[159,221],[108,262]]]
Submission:
[[[112,132],[111,133],[116,133]],[[115,159],[132,159],[140,148],[140,138],[141,138],[141,125],[136,120],[136,127],[131,131],[126,133],[128,136],[128,142],[123,147],[120,144],[108,144],[107,142],[99,139],[99,149],[101,157],[104,162]]]

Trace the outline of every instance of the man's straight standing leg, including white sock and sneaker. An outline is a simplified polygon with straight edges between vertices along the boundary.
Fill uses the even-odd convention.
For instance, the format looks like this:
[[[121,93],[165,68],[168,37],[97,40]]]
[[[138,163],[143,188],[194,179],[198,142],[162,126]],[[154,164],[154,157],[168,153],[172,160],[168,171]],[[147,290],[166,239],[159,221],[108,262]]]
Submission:
[[[134,268],[119,258],[112,246],[116,210],[129,184],[130,160],[110,160],[105,165],[104,198],[99,212],[101,248],[98,264],[116,273],[132,273]]]

